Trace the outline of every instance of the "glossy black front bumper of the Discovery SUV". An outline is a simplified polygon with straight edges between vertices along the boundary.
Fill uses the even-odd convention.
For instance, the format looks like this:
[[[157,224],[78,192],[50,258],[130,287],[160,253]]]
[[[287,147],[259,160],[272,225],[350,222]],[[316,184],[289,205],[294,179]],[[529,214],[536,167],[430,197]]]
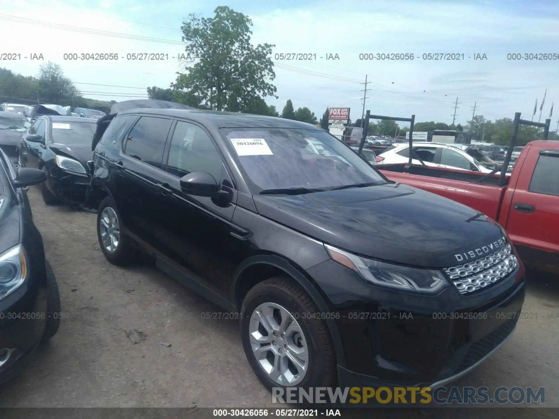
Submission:
[[[342,340],[340,387],[425,387],[449,382],[488,358],[513,332],[524,302],[524,267],[488,289],[437,296],[367,284],[326,261],[307,272],[328,297]]]

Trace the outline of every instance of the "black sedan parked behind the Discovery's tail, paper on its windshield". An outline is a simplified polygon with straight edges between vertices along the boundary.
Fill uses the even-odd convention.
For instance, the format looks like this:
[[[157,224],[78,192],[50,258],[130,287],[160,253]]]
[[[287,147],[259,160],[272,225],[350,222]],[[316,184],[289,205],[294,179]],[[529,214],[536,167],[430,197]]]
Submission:
[[[73,116],[41,116],[22,136],[19,165],[42,170],[46,204],[81,206],[91,177],[91,141],[96,121]]]

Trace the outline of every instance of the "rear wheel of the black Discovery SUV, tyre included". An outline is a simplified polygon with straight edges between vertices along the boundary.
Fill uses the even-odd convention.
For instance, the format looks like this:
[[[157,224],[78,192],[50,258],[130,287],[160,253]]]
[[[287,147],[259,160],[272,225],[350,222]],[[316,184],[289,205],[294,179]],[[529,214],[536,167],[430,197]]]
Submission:
[[[121,232],[119,209],[110,196],[101,201],[97,212],[97,239],[105,258],[113,265],[126,265],[134,260],[136,248]]]

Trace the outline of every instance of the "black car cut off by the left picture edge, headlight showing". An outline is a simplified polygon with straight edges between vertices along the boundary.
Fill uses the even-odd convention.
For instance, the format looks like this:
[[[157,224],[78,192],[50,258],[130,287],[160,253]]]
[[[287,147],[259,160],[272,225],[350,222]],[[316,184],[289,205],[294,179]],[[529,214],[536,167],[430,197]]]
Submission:
[[[26,193],[44,180],[41,170],[16,168],[0,150],[0,383],[60,324],[58,286]]]

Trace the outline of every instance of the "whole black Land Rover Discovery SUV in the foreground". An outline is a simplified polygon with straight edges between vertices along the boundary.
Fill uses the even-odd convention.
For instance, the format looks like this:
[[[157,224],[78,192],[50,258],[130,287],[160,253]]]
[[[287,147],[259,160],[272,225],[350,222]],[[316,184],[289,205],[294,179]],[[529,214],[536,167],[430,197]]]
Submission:
[[[321,128],[130,109],[98,122],[93,147],[105,257],[148,252],[238,313],[268,388],[440,384],[515,327],[524,268],[503,228],[387,180]]]

